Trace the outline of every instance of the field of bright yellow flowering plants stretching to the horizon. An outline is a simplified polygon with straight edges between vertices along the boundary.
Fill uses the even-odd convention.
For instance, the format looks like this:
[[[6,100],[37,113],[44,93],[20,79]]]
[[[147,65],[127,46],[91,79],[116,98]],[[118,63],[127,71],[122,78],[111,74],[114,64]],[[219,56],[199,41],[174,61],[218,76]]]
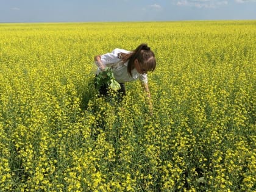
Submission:
[[[256,21],[0,24],[0,191],[255,191]],[[98,98],[93,57],[148,43]]]

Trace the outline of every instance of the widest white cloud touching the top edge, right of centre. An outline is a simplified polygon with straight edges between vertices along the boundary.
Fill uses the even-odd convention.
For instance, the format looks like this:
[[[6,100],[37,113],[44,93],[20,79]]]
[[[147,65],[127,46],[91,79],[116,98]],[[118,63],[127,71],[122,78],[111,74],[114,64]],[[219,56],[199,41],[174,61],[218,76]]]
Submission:
[[[243,1],[243,0],[236,0]],[[256,1],[256,0],[252,0]],[[197,8],[216,8],[222,5],[227,5],[228,1],[226,0],[174,0],[176,5],[180,6],[190,6]]]

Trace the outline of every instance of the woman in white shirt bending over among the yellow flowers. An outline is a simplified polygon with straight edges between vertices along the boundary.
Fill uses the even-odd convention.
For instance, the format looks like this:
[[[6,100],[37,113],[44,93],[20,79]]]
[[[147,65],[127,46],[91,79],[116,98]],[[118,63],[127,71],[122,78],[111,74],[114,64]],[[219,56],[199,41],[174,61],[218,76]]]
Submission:
[[[151,94],[148,87],[148,71],[154,71],[156,60],[155,54],[148,47],[148,44],[140,44],[134,51],[124,49],[114,49],[111,53],[96,55],[94,62],[98,66],[97,74],[105,69],[112,68],[116,81],[120,84],[119,93],[124,96],[126,89],[125,82],[140,79],[144,90],[147,93],[149,109],[152,112]],[[107,93],[107,87],[100,88],[101,94]]]

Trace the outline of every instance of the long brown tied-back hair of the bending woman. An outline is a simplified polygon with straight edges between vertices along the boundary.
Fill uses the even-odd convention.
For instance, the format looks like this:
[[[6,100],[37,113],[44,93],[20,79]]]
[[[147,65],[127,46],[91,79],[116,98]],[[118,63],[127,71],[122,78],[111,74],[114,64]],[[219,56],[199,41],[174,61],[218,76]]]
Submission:
[[[156,66],[155,54],[146,43],[140,44],[135,50],[128,54],[122,52],[121,59],[124,63],[128,61],[127,72],[130,76],[132,76],[132,69],[135,67],[135,59],[138,59],[138,62],[143,65],[146,71],[154,71]]]

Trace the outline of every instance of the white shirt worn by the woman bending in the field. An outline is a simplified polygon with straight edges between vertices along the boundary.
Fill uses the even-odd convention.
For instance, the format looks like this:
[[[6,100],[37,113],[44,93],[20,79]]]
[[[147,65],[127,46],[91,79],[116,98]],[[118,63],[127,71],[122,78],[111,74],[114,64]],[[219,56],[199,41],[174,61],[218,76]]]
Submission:
[[[134,68],[132,69],[132,76],[129,75],[129,73],[127,72],[127,65],[129,61],[127,61],[126,63],[123,63],[123,61],[118,58],[118,54],[121,52],[130,53],[130,51],[116,48],[110,53],[101,55],[102,65],[112,68],[113,74],[117,82],[119,83],[130,82],[133,80],[140,79],[141,82],[143,82],[144,84],[148,84],[148,75],[146,73],[140,74]],[[96,65],[98,65],[98,62],[95,62],[95,63]],[[100,71],[101,69],[99,68],[99,65],[98,65],[97,74],[99,74]]]

